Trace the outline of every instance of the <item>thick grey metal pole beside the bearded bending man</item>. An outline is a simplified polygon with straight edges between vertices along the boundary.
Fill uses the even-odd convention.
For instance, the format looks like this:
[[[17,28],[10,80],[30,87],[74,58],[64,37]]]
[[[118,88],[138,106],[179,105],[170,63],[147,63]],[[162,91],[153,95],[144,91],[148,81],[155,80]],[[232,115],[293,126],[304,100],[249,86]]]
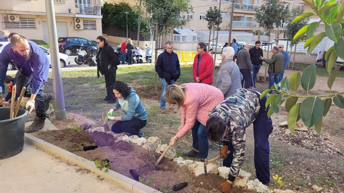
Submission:
[[[53,89],[55,98],[55,116],[57,120],[64,120],[67,118],[64,104],[60,56],[58,55],[57,32],[55,21],[55,10],[53,0],[45,0],[46,18],[48,22],[50,54],[51,54],[51,68],[53,75]]]

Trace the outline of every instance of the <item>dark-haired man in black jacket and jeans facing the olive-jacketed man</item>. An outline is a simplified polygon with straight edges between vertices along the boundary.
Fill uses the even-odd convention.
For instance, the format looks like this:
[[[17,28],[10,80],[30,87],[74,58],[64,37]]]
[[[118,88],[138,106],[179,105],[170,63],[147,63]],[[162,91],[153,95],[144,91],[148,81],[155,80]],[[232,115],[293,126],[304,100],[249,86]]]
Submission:
[[[256,77],[259,73],[260,66],[263,64],[263,60],[259,59],[263,56],[263,49],[260,48],[260,41],[256,41],[256,46],[251,48],[249,51],[253,69],[253,82],[251,82],[251,87],[256,88]]]

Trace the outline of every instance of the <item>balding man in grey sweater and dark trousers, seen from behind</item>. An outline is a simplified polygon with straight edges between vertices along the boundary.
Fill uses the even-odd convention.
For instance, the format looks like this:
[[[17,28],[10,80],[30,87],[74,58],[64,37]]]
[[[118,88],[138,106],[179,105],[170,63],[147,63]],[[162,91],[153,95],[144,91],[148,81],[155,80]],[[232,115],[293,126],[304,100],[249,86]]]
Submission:
[[[243,88],[249,89],[251,84],[251,74],[252,74],[252,64],[250,54],[248,53],[248,49],[250,49],[250,45],[245,44],[244,48],[238,52],[236,63],[239,66],[239,70],[243,75],[244,79],[241,80],[241,87],[243,87],[243,83],[245,80],[245,86]]]

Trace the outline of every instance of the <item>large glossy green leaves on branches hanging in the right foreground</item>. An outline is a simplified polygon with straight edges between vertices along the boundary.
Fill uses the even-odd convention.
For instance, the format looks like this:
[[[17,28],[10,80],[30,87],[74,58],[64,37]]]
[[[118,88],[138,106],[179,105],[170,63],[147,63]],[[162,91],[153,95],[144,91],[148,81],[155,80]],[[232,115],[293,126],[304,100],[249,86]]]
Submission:
[[[265,90],[261,98],[269,91],[275,91],[266,101],[266,106],[271,104],[268,111],[270,117],[273,113],[279,112],[279,106],[286,101],[286,110],[288,112],[288,128],[292,134],[295,131],[295,124],[301,119],[305,126],[315,127],[318,134],[321,132],[323,117],[329,111],[332,102],[339,108],[344,109],[344,92],[332,93],[331,89],[338,71],[341,66],[337,66],[334,70],[335,63],[338,57],[344,59],[344,2],[340,1],[326,1],[326,0],[302,0],[311,6],[313,12],[305,12],[297,16],[290,24],[294,24],[313,15],[320,18],[319,22],[313,22],[309,25],[303,26],[294,36],[294,40],[306,34],[310,37],[304,44],[304,48],[308,48],[307,53],[310,54],[314,48],[322,41],[323,38],[328,37],[334,42],[334,46],[329,48],[325,54],[326,70],[330,74],[327,80],[327,87],[329,87],[329,94],[315,95],[309,94],[309,91],[314,87],[316,80],[316,66],[309,65],[300,72],[294,72],[290,78],[285,77],[271,88]],[[340,4],[341,3],[341,4]],[[314,35],[315,30],[319,26],[324,26],[324,32]],[[299,86],[307,95],[299,95],[297,93]]]

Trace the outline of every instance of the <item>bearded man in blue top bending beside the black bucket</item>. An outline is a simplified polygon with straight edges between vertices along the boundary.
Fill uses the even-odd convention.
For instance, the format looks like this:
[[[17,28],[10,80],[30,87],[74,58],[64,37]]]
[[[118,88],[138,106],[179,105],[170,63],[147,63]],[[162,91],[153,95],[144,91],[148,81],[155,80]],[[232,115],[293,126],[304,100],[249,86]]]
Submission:
[[[49,109],[49,102],[53,99],[51,93],[43,93],[44,82],[49,74],[49,59],[36,43],[15,34],[11,43],[7,44],[0,54],[0,82],[3,82],[6,76],[9,60],[19,69],[15,75],[17,92],[20,93],[22,88],[26,87],[24,96],[30,98],[25,108],[36,110],[33,123],[25,128],[25,131],[36,132],[44,127],[45,111]]]

